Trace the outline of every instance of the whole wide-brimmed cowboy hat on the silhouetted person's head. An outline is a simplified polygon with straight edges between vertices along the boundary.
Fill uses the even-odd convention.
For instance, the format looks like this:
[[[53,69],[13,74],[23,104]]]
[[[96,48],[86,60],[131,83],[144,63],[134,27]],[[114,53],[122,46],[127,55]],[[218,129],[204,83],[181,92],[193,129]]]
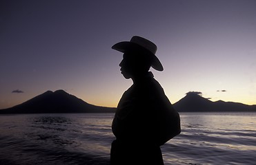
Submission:
[[[158,71],[164,70],[163,65],[161,65],[161,62],[157,56],[155,56],[155,53],[157,52],[157,45],[151,41],[148,41],[147,39],[142,38],[141,36],[132,36],[130,41],[122,41],[120,43],[116,43],[112,46],[112,49],[122,53],[129,50],[142,51],[148,55],[148,58],[150,58],[152,68]]]

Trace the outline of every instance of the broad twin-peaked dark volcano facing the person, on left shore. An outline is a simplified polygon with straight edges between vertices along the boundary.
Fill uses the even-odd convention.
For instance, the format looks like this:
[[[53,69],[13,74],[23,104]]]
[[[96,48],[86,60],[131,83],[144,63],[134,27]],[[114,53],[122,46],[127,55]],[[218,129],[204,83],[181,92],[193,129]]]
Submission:
[[[115,112],[115,108],[99,107],[88,104],[83,100],[72,96],[66,91],[46,91],[22,104],[8,109],[0,110],[0,113],[108,113]]]

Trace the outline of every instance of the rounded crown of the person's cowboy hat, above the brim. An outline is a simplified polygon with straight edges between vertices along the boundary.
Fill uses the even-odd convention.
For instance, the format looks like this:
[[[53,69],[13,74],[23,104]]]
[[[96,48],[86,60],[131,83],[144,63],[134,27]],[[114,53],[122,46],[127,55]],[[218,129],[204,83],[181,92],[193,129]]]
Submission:
[[[136,43],[137,45],[144,47],[146,50],[149,50],[152,54],[155,54],[157,52],[157,45],[155,45],[155,43],[152,43],[147,39],[142,38],[141,36],[132,36],[130,42]]]

